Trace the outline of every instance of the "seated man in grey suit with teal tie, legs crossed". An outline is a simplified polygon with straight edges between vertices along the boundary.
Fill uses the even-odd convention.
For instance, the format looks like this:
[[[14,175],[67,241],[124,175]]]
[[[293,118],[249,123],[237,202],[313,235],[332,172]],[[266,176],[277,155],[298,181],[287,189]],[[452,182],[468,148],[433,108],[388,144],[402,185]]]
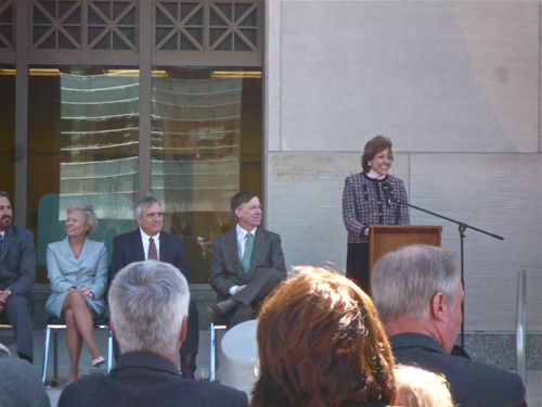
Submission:
[[[269,292],[286,278],[281,237],[258,228],[260,200],[254,192],[231,199],[237,226],[212,241],[210,284],[219,303],[208,309],[212,321],[223,316],[228,329],[254,319]]]

